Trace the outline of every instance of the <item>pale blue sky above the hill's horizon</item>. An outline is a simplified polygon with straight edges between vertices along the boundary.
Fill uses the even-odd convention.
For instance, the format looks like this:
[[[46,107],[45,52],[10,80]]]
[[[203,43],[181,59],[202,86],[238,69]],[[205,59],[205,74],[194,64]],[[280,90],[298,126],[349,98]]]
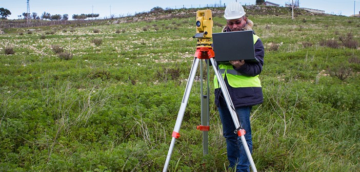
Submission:
[[[195,8],[206,7],[206,5],[222,4],[226,5],[236,0],[29,0],[30,13],[36,12],[38,16],[47,12],[54,14],[68,14],[72,19],[73,14],[99,14],[99,18],[109,18],[110,16],[119,17],[134,15],[139,12],[148,12],[154,7],[162,7],[163,9],[172,8]],[[242,5],[253,5],[255,0],[237,0]],[[269,1],[280,6],[290,4],[291,0],[272,0]],[[350,16],[359,14],[360,0],[299,0],[299,6],[304,8],[312,8],[324,10],[325,13],[335,15]],[[8,19],[18,19],[18,15],[22,15],[27,11],[27,0],[0,0],[0,8],[10,10],[11,15]]]

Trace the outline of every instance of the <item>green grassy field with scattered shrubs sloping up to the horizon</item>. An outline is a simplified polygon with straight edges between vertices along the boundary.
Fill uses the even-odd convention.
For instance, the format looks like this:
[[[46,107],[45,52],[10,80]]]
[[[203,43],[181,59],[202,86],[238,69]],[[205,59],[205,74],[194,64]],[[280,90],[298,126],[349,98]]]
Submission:
[[[196,10],[3,29],[0,171],[162,171],[196,48]],[[220,32],[224,8],[212,10]],[[264,103],[251,114],[258,171],[358,171],[360,18],[248,10],[266,50]],[[213,89],[203,156],[199,87],[170,171],[227,170]]]

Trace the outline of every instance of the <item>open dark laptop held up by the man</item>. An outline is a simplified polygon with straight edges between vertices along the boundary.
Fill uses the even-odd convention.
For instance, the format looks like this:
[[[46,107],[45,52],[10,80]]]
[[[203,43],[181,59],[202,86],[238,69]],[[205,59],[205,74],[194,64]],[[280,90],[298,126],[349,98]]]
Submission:
[[[252,35],[251,30],[213,33],[215,61],[222,64],[230,64],[230,60],[258,62]]]

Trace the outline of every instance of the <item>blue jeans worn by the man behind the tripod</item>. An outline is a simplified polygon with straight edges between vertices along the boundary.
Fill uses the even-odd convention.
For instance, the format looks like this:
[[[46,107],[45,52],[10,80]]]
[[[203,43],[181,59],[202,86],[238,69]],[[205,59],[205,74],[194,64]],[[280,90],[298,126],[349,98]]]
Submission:
[[[223,123],[223,135],[226,138],[226,148],[228,160],[230,162],[229,167],[233,168],[236,164],[236,171],[249,171],[250,172],[250,161],[246,155],[243,142],[237,134],[234,133],[236,130],[234,122],[231,118],[231,114],[227,106],[217,107],[221,121]],[[237,107],[235,111],[237,118],[241,126],[246,131],[245,140],[248,144],[250,152],[252,154],[252,139],[251,139],[251,127],[250,127],[250,111],[251,106]]]

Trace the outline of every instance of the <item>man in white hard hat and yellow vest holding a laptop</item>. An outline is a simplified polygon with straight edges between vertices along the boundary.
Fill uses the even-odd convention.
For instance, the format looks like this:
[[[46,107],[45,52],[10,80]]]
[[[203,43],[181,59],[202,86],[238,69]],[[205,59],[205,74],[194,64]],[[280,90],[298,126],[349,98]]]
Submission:
[[[232,2],[226,6],[224,17],[227,25],[223,32],[233,32],[242,30],[252,30],[253,23],[245,16],[244,8]],[[254,32],[253,32],[254,33]],[[245,139],[252,153],[252,139],[250,127],[250,111],[253,105],[263,102],[263,91],[258,75],[264,65],[264,46],[258,36],[254,37],[255,56],[258,62],[247,62],[244,60],[230,61],[231,65],[219,64],[231,100],[239,122],[246,131]],[[229,40],[236,44],[238,40]],[[216,51],[216,50],[215,50]],[[216,52],[215,52],[216,54]],[[216,58],[216,56],[215,56]],[[223,93],[214,78],[215,85],[215,104],[218,108],[221,121],[223,123],[223,134],[226,138],[227,156],[230,168],[236,171],[250,171],[250,162],[247,158],[241,138],[234,133],[236,130],[231,114],[224,100]]]

